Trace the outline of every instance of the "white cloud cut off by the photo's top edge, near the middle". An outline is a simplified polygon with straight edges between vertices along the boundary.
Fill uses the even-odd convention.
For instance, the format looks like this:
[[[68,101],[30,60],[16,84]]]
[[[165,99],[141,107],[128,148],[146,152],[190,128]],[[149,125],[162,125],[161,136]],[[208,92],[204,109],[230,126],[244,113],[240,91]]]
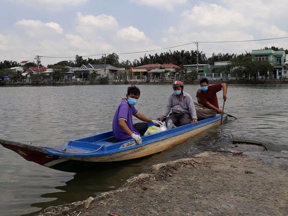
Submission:
[[[131,0],[131,2],[171,12],[174,10],[175,6],[185,4],[187,0]]]

